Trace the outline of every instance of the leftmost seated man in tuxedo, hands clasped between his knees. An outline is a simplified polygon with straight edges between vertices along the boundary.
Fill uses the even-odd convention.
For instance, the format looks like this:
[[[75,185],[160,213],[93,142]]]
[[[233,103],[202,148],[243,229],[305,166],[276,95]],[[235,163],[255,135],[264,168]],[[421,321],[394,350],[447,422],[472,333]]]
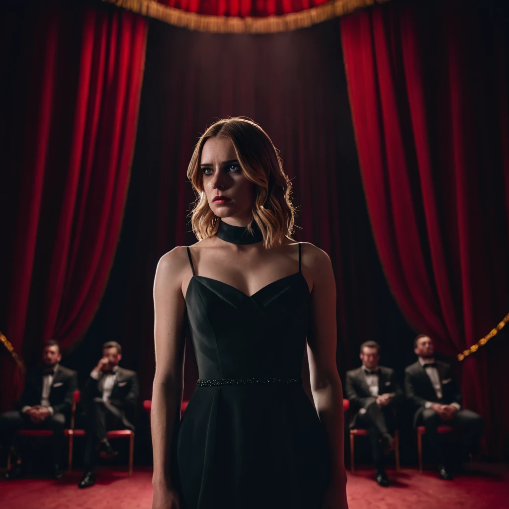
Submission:
[[[26,374],[25,388],[18,401],[19,410],[0,416],[0,438],[9,450],[16,446],[16,432],[22,429],[51,430],[51,474],[55,479],[64,475],[59,468],[64,428],[71,414],[72,395],[78,385],[75,371],[60,364],[59,344],[50,340],[44,344],[42,366]],[[24,474],[21,459],[6,473],[7,479]]]

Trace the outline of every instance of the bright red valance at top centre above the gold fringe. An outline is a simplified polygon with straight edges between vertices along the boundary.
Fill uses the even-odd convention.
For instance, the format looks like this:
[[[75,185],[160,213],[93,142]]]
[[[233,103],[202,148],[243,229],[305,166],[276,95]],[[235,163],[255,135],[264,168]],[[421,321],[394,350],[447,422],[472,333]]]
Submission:
[[[195,14],[242,18],[290,14],[326,4],[328,0],[159,0],[159,3]]]

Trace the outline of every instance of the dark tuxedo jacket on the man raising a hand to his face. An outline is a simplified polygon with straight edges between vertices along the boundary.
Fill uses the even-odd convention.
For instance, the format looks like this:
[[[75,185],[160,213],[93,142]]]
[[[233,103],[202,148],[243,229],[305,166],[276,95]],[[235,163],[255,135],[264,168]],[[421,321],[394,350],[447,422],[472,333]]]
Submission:
[[[103,375],[104,376],[104,375]],[[84,387],[83,406],[87,409],[87,405],[94,398],[101,398],[100,377],[95,380],[89,377]],[[134,429],[132,422],[134,421],[134,410],[138,400],[139,384],[136,372],[118,367],[115,384],[111,389],[109,403],[116,407],[122,414],[122,420],[126,428]]]

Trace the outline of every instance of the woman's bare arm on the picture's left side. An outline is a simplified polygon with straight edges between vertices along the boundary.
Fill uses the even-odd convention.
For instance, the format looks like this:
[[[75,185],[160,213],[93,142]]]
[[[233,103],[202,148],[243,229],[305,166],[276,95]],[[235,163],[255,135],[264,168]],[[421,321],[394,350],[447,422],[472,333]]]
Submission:
[[[176,247],[166,253],[159,260],[154,281],[156,370],[150,412],[154,454],[153,509],[179,507],[171,458],[183,390],[185,302],[182,273],[187,260],[184,253],[185,247]]]

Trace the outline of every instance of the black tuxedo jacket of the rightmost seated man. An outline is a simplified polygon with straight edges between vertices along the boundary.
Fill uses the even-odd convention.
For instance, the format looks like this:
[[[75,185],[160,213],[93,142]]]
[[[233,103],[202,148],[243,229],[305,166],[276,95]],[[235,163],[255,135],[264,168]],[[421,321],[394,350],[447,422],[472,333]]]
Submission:
[[[405,392],[407,398],[415,408],[414,426],[416,426],[419,415],[425,408],[428,401],[432,403],[441,403],[450,405],[451,403],[459,403],[461,405],[462,394],[456,383],[450,364],[442,361],[435,361],[438,374],[442,382],[442,399],[437,398],[435,388],[431,383],[430,377],[426,370],[420,365],[420,362],[414,362],[405,369]]]

